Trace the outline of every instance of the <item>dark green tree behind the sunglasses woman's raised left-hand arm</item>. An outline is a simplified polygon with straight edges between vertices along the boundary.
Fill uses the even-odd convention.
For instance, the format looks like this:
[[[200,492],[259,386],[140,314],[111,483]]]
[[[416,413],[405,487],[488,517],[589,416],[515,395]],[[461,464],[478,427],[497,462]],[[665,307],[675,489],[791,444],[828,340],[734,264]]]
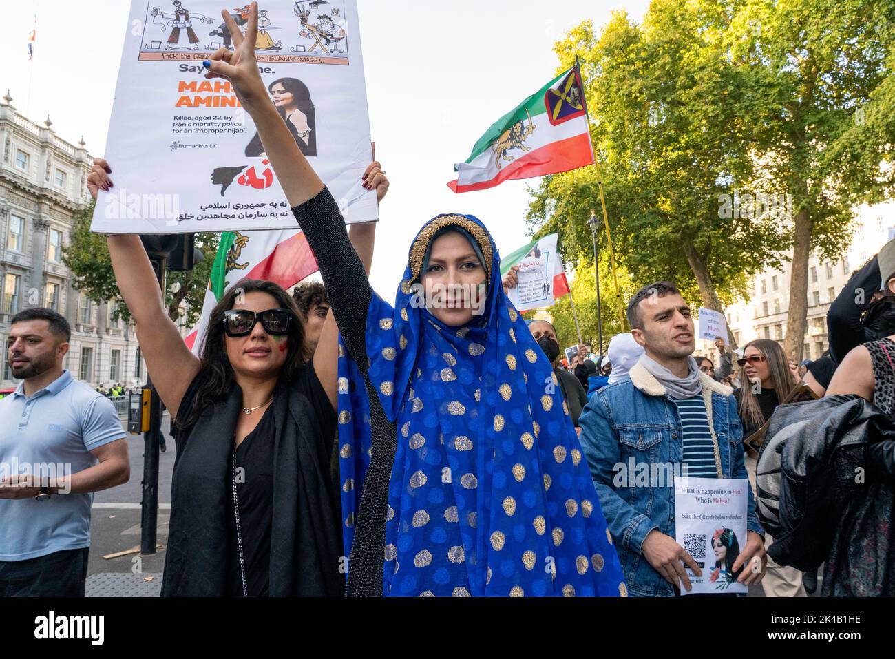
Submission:
[[[91,203],[90,207],[73,218],[71,239],[63,248],[63,262],[72,271],[72,287],[82,291],[93,302],[114,303],[114,320],[120,318],[130,322],[131,313],[115,282],[106,236],[90,231],[92,218]],[[183,322],[192,327],[199,321],[205,290],[209,285],[211,265],[217,253],[218,239],[217,234],[197,234],[195,245],[204,259],[196,263],[192,270],[167,273],[165,306],[168,318],[172,321],[176,322],[180,318],[183,303],[186,303],[187,309]]]

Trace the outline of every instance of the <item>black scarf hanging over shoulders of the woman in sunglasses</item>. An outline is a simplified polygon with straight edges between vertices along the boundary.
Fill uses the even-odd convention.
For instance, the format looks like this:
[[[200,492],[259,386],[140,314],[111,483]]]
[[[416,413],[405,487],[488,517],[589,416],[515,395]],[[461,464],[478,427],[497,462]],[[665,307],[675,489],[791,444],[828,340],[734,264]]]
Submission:
[[[192,404],[196,389],[193,381],[181,412]],[[234,386],[226,400],[178,434],[163,596],[226,594],[226,497],[233,492],[230,455],[242,401],[242,389]],[[332,419],[321,419],[303,391],[284,381],[274,389],[272,406],[276,435],[269,594],[343,595],[341,526],[328,466],[335,412]]]

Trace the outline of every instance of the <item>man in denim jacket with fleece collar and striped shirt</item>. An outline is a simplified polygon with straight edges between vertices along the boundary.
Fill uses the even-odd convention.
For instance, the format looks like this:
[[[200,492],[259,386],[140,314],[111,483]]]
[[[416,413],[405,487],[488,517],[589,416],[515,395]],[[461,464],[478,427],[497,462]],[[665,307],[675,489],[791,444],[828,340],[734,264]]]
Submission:
[[[743,426],[732,390],[696,368],[693,318],[677,287],[644,287],[628,304],[627,319],[646,354],[629,378],[591,397],[579,421],[581,443],[628,592],[672,596],[681,582],[690,589],[685,563],[701,571],[675,541],[670,476],[686,467],[689,476],[747,478]],[[635,477],[644,469],[645,478]],[[751,488],[746,526],[733,570],[745,566],[737,580],[751,586],[766,563]]]

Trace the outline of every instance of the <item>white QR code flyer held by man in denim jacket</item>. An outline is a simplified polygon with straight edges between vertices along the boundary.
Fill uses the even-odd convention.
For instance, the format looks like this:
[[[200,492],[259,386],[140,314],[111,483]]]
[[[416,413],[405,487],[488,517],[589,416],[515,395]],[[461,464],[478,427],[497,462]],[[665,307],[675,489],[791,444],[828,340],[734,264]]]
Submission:
[[[733,571],[746,545],[748,484],[746,478],[675,478],[675,540],[703,572],[696,577],[685,568],[692,589],[680,585],[681,595],[748,592],[737,581],[743,568]]]

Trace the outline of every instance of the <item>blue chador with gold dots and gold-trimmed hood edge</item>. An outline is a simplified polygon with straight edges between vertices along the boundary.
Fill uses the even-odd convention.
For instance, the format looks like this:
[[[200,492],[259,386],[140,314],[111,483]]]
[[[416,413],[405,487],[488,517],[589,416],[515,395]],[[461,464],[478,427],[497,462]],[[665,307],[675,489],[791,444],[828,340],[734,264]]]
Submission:
[[[435,238],[465,235],[487,272],[484,312],[462,327],[414,304]],[[626,595],[612,538],[556,377],[507,301],[499,255],[472,216],[441,215],[413,241],[395,306],[374,295],[369,377],[397,450],[385,595]],[[339,359],[345,554],[370,462],[370,402]]]

